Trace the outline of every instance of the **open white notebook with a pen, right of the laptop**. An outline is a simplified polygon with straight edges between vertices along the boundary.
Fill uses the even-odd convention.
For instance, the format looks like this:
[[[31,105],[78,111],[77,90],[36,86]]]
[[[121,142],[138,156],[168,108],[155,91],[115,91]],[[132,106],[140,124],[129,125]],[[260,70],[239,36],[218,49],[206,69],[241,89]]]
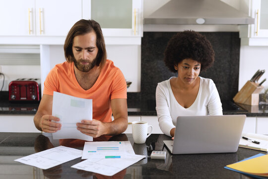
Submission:
[[[251,140],[243,138],[239,141],[239,147],[254,149],[259,151],[268,152],[268,136],[254,133],[243,133],[242,136],[250,138],[251,140],[258,141],[260,144],[253,143]]]

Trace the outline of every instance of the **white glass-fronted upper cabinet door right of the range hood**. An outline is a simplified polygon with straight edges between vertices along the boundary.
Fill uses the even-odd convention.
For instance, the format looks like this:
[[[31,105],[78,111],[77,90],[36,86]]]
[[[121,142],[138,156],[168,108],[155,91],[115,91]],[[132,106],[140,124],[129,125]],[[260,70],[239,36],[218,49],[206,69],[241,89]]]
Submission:
[[[255,17],[251,37],[268,37],[268,0],[252,0],[251,13]]]

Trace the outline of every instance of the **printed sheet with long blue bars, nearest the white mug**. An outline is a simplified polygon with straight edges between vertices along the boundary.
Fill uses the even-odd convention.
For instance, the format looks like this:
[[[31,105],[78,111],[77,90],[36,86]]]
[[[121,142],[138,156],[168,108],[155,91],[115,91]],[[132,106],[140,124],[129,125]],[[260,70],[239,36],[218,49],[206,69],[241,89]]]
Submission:
[[[122,158],[135,154],[130,141],[85,142],[82,159]]]

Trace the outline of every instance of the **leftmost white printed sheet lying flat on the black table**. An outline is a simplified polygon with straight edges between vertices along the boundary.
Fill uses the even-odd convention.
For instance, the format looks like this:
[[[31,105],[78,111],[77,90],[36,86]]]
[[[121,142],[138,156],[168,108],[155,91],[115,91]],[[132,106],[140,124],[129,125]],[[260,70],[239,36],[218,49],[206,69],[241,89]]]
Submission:
[[[81,156],[81,150],[59,146],[14,161],[46,170]]]

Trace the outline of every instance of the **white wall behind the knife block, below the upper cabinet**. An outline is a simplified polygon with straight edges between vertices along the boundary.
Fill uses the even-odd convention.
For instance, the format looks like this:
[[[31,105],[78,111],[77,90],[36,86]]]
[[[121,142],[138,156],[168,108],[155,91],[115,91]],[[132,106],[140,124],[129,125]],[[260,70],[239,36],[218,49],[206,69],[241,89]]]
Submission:
[[[258,69],[266,70],[259,82],[268,80],[268,47],[267,46],[241,46],[239,66],[239,90],[257,72]],[[268,81],[263,86],[268,88]]]

